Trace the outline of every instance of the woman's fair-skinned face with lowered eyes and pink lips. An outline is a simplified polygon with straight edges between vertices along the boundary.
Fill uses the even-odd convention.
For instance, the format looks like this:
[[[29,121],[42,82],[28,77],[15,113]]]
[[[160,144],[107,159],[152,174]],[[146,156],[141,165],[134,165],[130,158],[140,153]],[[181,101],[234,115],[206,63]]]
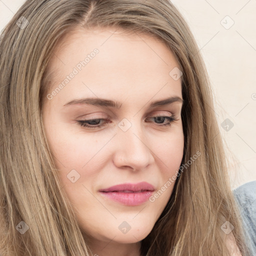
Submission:
[[[76,30],[66,37],[52,54],[43,103],[60,182],[82,232],[103,251],[147,236],[183,155],[181,73],[173,54],[150,35],[121,32]],[[99,191],[139,182],[151,187]]]

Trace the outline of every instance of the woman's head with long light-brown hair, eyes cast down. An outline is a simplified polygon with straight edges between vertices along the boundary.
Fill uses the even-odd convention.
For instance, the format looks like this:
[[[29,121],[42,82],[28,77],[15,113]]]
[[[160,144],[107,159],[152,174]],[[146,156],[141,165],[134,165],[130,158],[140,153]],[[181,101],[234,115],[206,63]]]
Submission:
[[[248,255],[171,2],[27,0],[0,68],[1,254]]]

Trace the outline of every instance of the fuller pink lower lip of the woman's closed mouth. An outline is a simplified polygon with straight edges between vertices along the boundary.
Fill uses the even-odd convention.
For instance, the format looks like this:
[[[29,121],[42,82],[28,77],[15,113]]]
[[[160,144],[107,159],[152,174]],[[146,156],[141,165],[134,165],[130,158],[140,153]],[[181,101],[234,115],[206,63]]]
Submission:
[[[102,195],[125,205],[139,205],[148,200],[153,191],[143,192],[100,192]]]

